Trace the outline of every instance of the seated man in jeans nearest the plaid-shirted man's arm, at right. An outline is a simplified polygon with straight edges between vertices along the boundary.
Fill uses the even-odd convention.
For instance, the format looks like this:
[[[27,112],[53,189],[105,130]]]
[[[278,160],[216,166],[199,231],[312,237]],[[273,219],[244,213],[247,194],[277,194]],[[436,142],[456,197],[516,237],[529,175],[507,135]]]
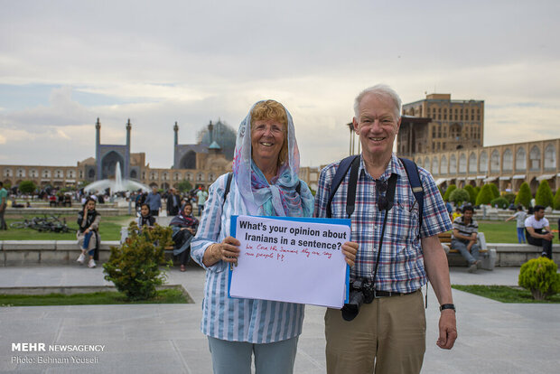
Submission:
[[[459,250],[462,257],[469,261],[469,273],[476,272],[481,264],[479,259],[479,245],[477,244],[477,234],[479,224],[472,220],[474,210],[471,205],[465,205],[462,209],[462,217],[453,220],[453,234],[451,248]]]

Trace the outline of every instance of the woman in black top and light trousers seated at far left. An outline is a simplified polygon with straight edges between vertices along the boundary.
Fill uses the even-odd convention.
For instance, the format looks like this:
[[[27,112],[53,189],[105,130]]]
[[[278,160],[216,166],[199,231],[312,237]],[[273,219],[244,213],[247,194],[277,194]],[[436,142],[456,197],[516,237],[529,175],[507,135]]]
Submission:
[[[96,201],[88,198],[83,205],[83,210],[78,213],[78,245],[81,249],[78,259],[79,264],[86,261],[86,252],[89,255],[88,267],[95,267],[99,249],[99,222],[101,215],[95,210]]]

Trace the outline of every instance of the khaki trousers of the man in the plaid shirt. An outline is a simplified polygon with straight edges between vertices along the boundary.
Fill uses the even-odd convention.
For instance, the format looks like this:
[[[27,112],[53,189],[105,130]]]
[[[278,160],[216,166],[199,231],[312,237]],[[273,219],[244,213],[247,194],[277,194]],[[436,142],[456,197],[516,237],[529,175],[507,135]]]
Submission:
[[[328,374],[419,373],[425,353],[422,292],[374,299],[350,322],[329,308],[325,336]]]

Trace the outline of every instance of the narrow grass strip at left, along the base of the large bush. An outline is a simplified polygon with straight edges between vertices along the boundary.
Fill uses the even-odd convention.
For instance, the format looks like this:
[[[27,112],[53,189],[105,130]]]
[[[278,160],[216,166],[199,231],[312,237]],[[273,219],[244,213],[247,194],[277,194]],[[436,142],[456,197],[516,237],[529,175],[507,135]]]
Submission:
[[[98,304],[189,304],[189,300],[178,289],[157,291],[154,300],[130,302],[119,292],[95,292],[75,295],[0,295],[0,306],[44,306],[44,305],[98,305]]]

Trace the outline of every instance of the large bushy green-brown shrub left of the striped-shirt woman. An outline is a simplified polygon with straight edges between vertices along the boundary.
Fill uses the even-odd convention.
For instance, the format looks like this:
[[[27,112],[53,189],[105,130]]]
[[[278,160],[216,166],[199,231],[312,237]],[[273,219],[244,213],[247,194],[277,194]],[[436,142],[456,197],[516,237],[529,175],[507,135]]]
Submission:
[[[163,285],[171,265],[171,261],[165,263],[164,248],[173,245],[172,229],[155,225],[140,232],[131,222],[128,235],[120,247],[111,248],[109,260],[103,264],[105,279],[129,300],[154,298],[156,285]]]

